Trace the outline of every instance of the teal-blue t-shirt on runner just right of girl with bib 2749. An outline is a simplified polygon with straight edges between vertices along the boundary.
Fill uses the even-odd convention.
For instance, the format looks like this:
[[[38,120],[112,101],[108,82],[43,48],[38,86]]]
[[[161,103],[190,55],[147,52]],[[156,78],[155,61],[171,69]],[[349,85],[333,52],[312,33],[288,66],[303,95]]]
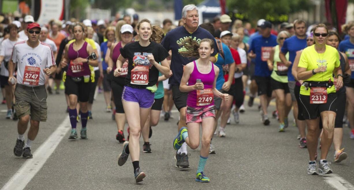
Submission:
[[[221,57],[221,55],[218,55],[218,60],[214,63],[217,67],[219,67],[219,75],[218,78],[216,79],[216,89],[221,90],[222,85],[225,82],[224,78],[224,72],[222,70],[223,65],[228,65],[234,63],[234,58],[232,57],[231,51],[229,47],[227,47],[226,44],[222,43],[222,48],[224,52],[224,58]]]

